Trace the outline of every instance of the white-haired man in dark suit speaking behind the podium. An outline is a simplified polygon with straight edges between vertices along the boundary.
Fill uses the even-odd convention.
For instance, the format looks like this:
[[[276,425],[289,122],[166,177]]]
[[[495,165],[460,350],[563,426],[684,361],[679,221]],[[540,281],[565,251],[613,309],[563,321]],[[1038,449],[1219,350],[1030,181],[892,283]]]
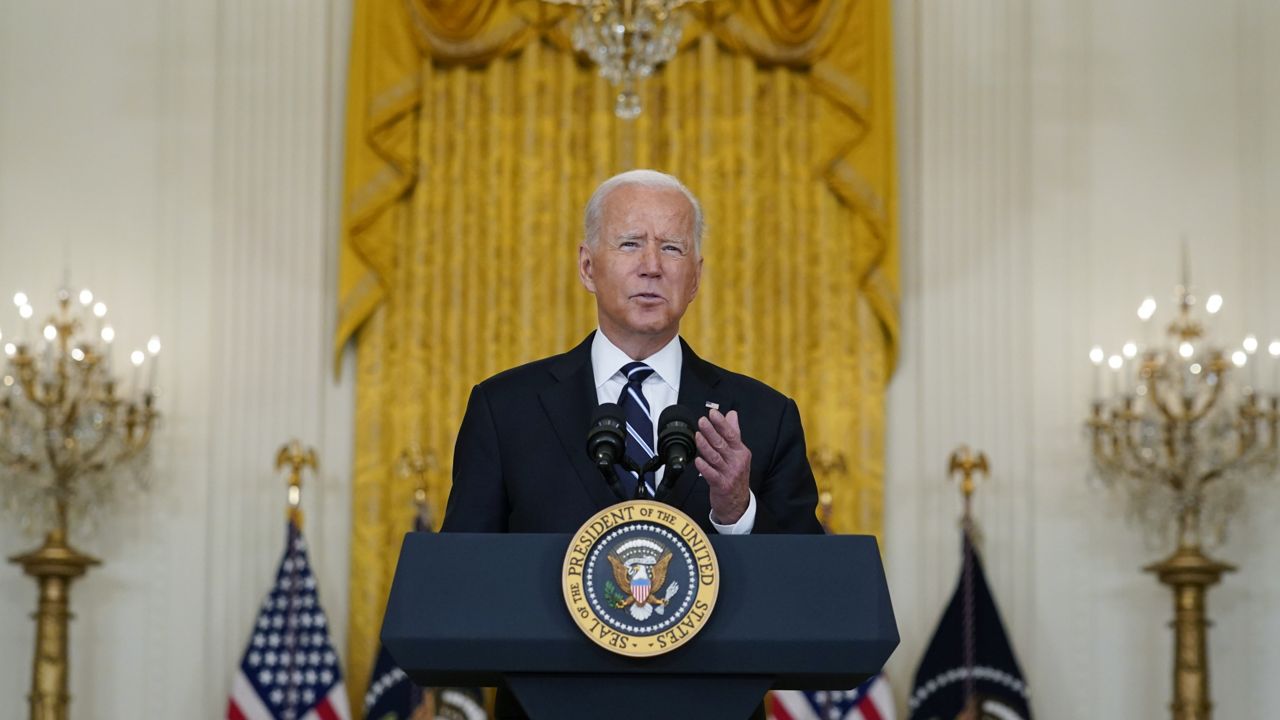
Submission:
[[[631,404],[649,425],[634,443],[654,447],[662,410],[698,420],[696,471],[659,488],[708,532],[820,533],[818,492],[792,400],[700,359],[678,337],[701,279],[703,217],[676,178],[631,170],[596,188],[586,206],[579,277],[595,295],[599,331],[563,355],[477,384],[453,455],[444,532],[570,533],[618,502],[586,455],[591,411]],[[631,411],[631,410],[628,410]],[[644,434],[650,437],[645,438]],[[631,448],[628,448],[628,454]],[[518,712],[499,696],[499,717]]]

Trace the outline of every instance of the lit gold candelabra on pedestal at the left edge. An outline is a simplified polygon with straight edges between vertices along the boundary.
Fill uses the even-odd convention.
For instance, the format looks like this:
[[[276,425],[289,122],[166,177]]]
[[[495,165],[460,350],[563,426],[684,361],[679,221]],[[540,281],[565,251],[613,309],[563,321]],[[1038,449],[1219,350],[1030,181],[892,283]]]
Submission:
[[[100,564],[72,547],[70,525],[114,500],[129,477],[145,486],[142,470],[157,418],[152,383],[160,341],[147,343],[147,384],[141,382],[147,356],[134,351],[133,383],[122,392],[111,373],[115,331],[105,323],[106,305],[93,302],[92,292],[81,291],[77,307],[70,291],[60,290],[40,340],[32,337],[35,310],[27,296],[17,293],[14,305],[22,332],[4,345],[0,500],[24,527],[45,533],[41,547],[10,561],[38,585],[31,717],[61,720],[70,700],[70,584]]]

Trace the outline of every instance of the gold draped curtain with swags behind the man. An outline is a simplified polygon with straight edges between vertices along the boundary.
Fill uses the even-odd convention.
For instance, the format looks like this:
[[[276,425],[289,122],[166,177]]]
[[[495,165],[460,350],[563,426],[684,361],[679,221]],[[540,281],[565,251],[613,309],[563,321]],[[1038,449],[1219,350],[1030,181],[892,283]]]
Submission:
[[[530,0],[356,4],[335,352],[356,343],[348,687],[360,705],[404,530],[412,443],[443,509],[471,386],[595,327],[581,210],[632,167],[703,201],[682,334],[796,398],[838,532],[881,532],[897,255],[888,0],[692,10],[644,113]],[[837,450],[840,452],[837,452]],[[436,518],[439,521],[439,518]]]

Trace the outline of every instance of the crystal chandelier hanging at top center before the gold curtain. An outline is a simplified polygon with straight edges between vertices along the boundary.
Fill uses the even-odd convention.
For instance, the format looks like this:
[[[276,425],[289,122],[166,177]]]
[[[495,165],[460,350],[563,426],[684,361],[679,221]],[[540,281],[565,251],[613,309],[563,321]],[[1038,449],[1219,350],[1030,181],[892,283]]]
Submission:
[[[573,26],[573,49],[600,67],[600,77],[618,88],[613,114],[640,115],[636,83],[676,55],[684,15],[676,10],[701,0],[545,0],[582,9]]]

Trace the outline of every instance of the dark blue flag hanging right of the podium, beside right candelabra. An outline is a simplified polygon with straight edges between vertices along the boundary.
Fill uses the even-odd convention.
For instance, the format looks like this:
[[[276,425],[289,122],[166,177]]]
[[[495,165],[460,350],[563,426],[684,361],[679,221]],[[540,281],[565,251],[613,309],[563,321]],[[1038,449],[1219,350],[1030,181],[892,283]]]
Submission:
[[[1032,720],[1027,680],[968,527],[963,536],[960,580],[915,671],[910,720]]]

